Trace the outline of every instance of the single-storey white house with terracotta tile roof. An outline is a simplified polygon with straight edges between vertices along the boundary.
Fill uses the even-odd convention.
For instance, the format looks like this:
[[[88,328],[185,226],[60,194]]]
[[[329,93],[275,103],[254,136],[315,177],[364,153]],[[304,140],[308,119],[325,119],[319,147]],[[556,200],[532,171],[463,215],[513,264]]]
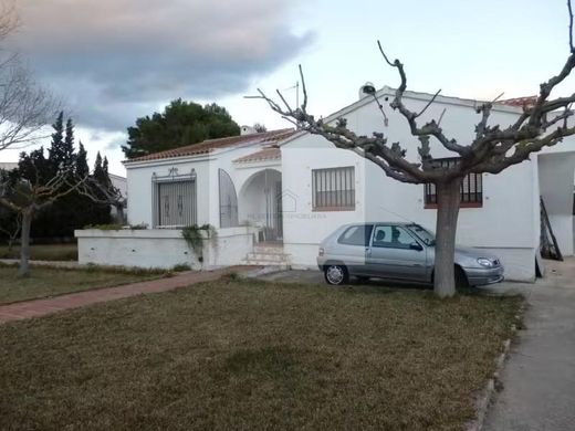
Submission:
[[[394,94],[389,87],[377,92],[387,126],[374,98],[362,92],[356,103],[325,120],[345,117],[348,127],[359,135],[383,132],[389,143],[401,143],[407,157],[416,161],[417,139],[409,134],[405,119],[385,103]],[[404,101],[418,112],[431,97],[406,92]],[[512,123],[523,102],[498,103],[490,123]],[[479,122],[477,104],[438,96],[421,122],[442,116],[443,130],[466,144]],[[433,143],[431,154],[437,159],[454,156]],[[244,127],[239,137],[145,156],[125,166],[130,197],[128,221],[150,229],[118,233],[124,235],[123,241],[129,243],[136,234],[172,235],[175,241],[180,238],[168,232],[170,228],[209,223],[218,229],[218,241],[223,244],[219,253],[224,255],[211,253],[211,265],[270,262],[313,267],[317,244],[348,222],[409,220],[435,228],[432,187],[397,182],[354,153],[336,149],[320,136],[291,129],[255,134]],[[574,172],[572,137],[498,176],[469,176],[463,181],[458,242],[493,251],[504,263],[508,278],[533,280],[541,234],[540,196],[561,251],[564,255],[574,253]],[[109,256],[90,250],[95,236],[102,244],[108,241],[106,233],[79,232],[81,261],[108,263]],[[157,238],[149,244],[157,244]],[[185,248],[178,246],[176,254],[184,253]],[[237,252],[230,252],[230,248]],[[124,264],[167,266],[184,259],[172,259],[169,249],[150,250],[144,260],[114,256],[112,262],[119,259]]]

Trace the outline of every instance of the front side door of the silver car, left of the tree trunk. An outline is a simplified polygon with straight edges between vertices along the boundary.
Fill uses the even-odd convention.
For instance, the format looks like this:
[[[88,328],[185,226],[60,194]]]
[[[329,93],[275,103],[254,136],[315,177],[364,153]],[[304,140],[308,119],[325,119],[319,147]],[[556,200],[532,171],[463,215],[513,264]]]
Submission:
[[[426,248],[407,229],[395,224],[376,224],[367,250],[372,276],[425,282]]]

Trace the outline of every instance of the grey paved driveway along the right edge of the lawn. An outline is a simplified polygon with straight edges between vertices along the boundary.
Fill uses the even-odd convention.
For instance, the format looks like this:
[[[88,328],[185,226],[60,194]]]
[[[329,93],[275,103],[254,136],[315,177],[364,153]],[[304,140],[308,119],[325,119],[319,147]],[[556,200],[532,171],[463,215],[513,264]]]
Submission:
[[[498,287],[523,291],[529,309],[484,431],[575,430],[575,259],[545,263],[536,284]]]

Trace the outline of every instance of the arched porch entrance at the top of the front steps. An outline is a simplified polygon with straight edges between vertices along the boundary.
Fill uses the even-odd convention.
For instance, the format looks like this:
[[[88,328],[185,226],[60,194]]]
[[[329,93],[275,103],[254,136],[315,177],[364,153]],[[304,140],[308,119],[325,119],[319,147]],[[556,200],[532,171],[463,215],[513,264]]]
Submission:
[[[240,191],[239,216],[240,221],[261,228],[262,240],[282,240],[282,175],[280,171],[264,169],[248,178]]]

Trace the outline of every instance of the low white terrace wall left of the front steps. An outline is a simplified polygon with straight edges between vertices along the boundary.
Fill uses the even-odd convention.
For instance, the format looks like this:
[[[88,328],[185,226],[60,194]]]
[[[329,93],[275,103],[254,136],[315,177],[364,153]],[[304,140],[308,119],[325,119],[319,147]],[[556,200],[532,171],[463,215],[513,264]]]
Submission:
[[[252,228],[219,229],[215,238],[203,240],[203,260],[181,236],[180,230],[77,230],[81,264],[161,267],[190,265],[196,270],[237,265],[253,246]]]

